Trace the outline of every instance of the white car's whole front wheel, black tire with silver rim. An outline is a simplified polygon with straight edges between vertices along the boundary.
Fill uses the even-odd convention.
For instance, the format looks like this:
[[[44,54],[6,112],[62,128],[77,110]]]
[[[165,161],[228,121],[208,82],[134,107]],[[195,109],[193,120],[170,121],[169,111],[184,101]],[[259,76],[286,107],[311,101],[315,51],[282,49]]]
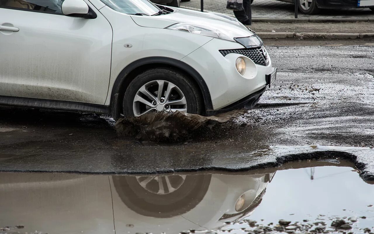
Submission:
[[[123,114],[140,116],[157,111],[201,114],[199,88],[183,73],[156,68],[136,76],[123,97]]]

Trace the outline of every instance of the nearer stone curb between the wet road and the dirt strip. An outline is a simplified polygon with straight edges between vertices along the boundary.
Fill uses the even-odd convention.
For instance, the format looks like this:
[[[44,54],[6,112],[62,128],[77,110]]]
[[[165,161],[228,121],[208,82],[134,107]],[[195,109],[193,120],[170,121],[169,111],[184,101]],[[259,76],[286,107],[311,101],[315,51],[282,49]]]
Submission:
[[[258,33],[262,39],[362,39],[373,38],[374,33]]]

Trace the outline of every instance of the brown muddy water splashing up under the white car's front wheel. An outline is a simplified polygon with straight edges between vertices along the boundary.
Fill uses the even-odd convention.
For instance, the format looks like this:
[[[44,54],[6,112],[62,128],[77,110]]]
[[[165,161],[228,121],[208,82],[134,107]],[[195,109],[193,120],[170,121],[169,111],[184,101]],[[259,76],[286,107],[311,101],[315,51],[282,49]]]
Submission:
[[[196,130],[245,114],[248,110],[233,110],[215,116],[202,116],[185,112],[156,112],[133,118],[120,118],[116,122],[119,136],[135,136],[140,141],[183,142]]]

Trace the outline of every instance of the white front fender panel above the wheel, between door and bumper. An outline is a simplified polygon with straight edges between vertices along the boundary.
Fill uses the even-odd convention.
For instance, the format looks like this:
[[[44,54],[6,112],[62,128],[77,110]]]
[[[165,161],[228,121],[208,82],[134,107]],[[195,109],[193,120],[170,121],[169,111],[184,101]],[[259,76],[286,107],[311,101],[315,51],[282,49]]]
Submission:
[[[181,60],[212,40],[212,37],[175,32],[175,30],[163,28],[147,28],[145,31],[142,30],[144,27],[132,21],[131,16],[116,12],[108,6],[103,7],[100,12],[107,17],[113,28],[110,91],[120,72],[134,61],[147,57],[159,57],[160,55]],[[125,47],[127,44],[131,45],[131,47]],[[106,105],[110,104],[110,96],[108,94]]]

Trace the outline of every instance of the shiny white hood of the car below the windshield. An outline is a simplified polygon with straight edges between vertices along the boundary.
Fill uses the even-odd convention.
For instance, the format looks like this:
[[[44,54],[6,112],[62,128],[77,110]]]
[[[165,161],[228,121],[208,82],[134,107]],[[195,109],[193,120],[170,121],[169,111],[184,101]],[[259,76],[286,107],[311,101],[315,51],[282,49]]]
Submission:
[[[171,7],[170,7],[171,8]],[[142,27],[166,28],[177,23],[187,23],[200,27],[214,28],[227,36],[249,37],[254,33],[249,31],[235,18],[220,13],[204,13],[196,10],[172,8],[174,12],[157,16],[132,15],[134,22]]]

